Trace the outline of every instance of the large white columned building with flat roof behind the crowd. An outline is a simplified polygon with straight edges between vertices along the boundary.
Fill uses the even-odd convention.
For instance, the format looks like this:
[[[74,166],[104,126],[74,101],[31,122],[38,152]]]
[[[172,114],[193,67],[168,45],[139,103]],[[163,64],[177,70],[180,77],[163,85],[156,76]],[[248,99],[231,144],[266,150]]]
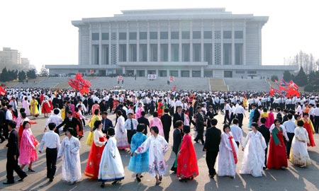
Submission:
[[[225,8],[130,10],[72,21],[79,28],[79,64],[46,65],[50,75],[81,73],[158,77],[282,76],[297,66],[262,65],[268,16]]]

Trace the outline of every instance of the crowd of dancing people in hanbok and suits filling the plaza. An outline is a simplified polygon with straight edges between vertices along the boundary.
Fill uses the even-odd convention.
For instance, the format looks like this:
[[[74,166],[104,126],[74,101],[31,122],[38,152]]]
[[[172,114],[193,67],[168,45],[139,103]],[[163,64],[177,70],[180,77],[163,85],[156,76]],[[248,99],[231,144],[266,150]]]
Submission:
[[[82,180],[79,149],[85,128],[89,129],[85,143],[91,149],[84,175],[99,180],[104,187],[106,182],[114,185],[125,177],[119,150],[130,153],[128,170],[136,174],[138,182],[142,173],[148,172],[159,185],[167,172],[164,154],[172,128],[176,159],[170,170],[179,181],[187,182],[198,175],[193,141],[201,141],[211,178],[235,178],[240,146],[243,156],[239,173],[260,177],[266,168],[287,168],[288,160],[301,168],[310,165],[307,148],[315,146],[313,134],[318,133],[319,126],[317,95],[285,98],[249,91],[101,90],[82,96],[69,90],[6,91],[0,96],[1,143],[8,139],[4,184],[14,183],[13,170],[20,177],[18,181],[27,176],[25,166],[28,172],[35,172],[37,147],[40,153],[46,147],[50,182],[55,177],[57,158],[62,158],[62,180],[70,185]],[[31,131],[39,115],[47,117],[40,142]],[[116,120],[108,119],[108,115],[116,115]],[[216,115],[224,116],[220,122],[223,127]],[[247,126],[244,117],[249,118]],[[245,141],[243,128],[250,130]],[[62,132],[66,137],[60,142]]]

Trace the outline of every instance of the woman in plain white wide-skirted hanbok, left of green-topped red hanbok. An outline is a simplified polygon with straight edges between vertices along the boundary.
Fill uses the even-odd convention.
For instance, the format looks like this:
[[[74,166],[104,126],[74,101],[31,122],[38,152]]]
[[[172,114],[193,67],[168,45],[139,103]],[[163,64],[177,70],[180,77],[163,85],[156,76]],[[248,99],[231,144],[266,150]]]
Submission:
[[[264,150],[267,148],[266,141],[258,131],[258,124],[252,123],[252,131],[247,134],[245,144],[242,145],[242,166],[240,174],[251,174],[254,177],[262,176],[264,168]]]

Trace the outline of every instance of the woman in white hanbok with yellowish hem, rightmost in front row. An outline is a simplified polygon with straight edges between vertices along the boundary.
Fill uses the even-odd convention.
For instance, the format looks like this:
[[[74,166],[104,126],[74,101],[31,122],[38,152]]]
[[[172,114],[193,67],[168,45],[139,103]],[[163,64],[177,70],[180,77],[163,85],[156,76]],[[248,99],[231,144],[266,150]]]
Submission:
[[[308,132],[303,128],[303,121],[297,122],[298,127],[295,128],[295,136],[291,143],[289,161],[302,168],[310,165],[311,161],[307,151],[307,142],[309,143]]]

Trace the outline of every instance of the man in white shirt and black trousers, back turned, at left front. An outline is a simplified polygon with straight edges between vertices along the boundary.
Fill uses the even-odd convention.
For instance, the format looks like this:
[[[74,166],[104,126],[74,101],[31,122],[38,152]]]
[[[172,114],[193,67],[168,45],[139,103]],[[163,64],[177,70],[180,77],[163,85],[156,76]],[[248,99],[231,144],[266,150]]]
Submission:
[[[39,153],[42,153],[43,146],[47,146],[45,150],[45,157],[47,158],[47,178],[50,178],[50,182],[53,181],[55,176],[55,171],[57,170],[57,151],[60,149],[60,137],[56,134],[55,131],[55,123],[49,123],[49,132],[46,132],[39,146]]]

